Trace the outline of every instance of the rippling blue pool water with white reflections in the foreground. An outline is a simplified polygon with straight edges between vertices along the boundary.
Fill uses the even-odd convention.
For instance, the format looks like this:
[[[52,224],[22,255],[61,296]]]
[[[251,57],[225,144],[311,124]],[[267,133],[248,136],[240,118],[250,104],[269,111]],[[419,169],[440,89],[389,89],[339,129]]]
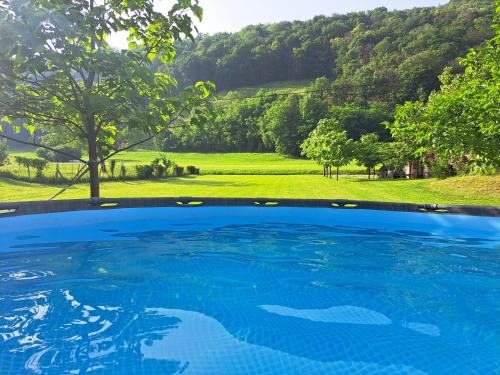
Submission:
[[[283,207],[0,219],[0,374],[500,373],[500,219]]]

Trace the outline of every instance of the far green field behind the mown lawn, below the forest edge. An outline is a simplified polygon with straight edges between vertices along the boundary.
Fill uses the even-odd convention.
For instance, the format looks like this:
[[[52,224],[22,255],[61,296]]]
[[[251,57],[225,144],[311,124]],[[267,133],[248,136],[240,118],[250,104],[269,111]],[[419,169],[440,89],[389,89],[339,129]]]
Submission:
[[[229,154],[200,154],[200,153],[165,153],[169,159],[180,166],[194,165],[200,168],[201,174],[321,174],[322,169],[314,161],[299,158],[289,158],[274,153],[229,153]],[[15,156],[36,157],[33,152],[13,152],[10,154],[10,164],[1,167],[0,171],[9,171],[14,175],[27,176],[27,170],[15,164]],[[149,164],[160,155],[158,151],[132,151],[118,154],[114,159],[118,161],[118,167],[123,162],[127,168],[128,175],[135,175],[135,165]],[[61,172],[65,176],[71,176],[78,170],[78,163],[60,163]],[[55,175],[55,163],[51,163],[44,172],[46,176]],[[356,163],[343,167],[342,173],[363,174],[365,169]]]

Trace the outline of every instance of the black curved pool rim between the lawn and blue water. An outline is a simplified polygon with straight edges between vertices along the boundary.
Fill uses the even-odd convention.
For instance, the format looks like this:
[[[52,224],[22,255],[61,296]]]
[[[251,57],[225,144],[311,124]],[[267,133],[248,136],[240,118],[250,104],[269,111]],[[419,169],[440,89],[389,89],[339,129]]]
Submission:
[[[419,212],[428,214],[456,214],[500,217],[500,206],[460,206],[415,204],[400,202],[373,202],[344,199],[280,199],[280,198],[102,198],[54,201],[0,203],[0,218],[54,212],[110,210],[148,207],[310,207],[344,210],[382,210]]]

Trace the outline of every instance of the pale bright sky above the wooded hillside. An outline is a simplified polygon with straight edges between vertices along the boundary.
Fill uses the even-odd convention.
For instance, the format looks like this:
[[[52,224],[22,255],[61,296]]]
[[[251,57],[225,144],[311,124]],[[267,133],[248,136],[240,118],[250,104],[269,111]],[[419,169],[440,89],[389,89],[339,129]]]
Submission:
[[[159,11],[168,11],[172,0],[157,0]],[[384,6],[389,10],[436,6],[448,0],[200,0],[204,10],[198,29],[202,33],[234,32],[247,25],[308,20],[318,15],[345,14]],[[112,35],[111,45],[126,46],[126,35]]]

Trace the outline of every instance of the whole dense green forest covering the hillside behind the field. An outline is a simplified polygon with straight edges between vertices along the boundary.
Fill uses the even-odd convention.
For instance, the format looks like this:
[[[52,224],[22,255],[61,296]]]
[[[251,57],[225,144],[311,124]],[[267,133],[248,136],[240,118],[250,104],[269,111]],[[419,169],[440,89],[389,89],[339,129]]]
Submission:
[[[156,147],[299,156],[324,118],[341,123],[355,141],[369,133],[390,140],[382,123],[393,121],[398,105],[426,101],[439,90],[445,67],[462,72],[459,58],[493,36],[494,13],[492,1],[455,0],[248,26],[183,42],[169,67],[180,85],[211,80],[223,93],[158,137]],[[258,90],[249,97],[236,89],[304,79],[311,84],[288,93]]]

